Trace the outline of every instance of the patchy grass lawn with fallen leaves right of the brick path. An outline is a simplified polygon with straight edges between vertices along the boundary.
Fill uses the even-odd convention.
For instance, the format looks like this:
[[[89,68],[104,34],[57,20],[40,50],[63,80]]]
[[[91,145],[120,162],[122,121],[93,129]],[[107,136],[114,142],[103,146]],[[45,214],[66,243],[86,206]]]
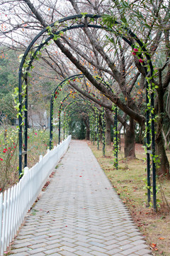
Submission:
[[[125,159],[123,142],[118,154],[118,170],[113,167],[113,146],[106,146],[106,156],[102,156],[102,145],[88,143],[98,163],[108,176],[123,203],[129,208],[133,220],[152,248],[153,255],[170,256],[170,181],[157,179],[158,208],[155,213],[147,207],[147,178],[145,151],[136,144],[136,159]],[[168,152],[170,160],[170,152]]]

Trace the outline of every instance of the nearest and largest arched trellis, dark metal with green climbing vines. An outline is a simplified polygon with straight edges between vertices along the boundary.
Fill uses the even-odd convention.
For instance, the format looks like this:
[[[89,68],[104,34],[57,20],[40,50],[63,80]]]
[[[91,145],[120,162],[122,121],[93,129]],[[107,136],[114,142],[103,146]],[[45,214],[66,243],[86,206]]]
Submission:
[[[123,38],[123,40],[128,43],[132,48],[134,48],[134,44],[131,43],[128,40],[128,37],[130,36],[131,38],[133,38],[135,40],[135,42],[140,46],[140,48],[142,49],[142,53],[145,55],[145,57],[147,58],[147,65],[149,65],[149,71],[147,70],[147,67],[145,67],[145,61],[143,63],[144,69],[145,69],[145,75],[147,78],[152,78],[153,75],[153,66],[152,66],[152,61],[151,58],[149,56],[149,54],[147,53],[147,49],[145,48],[144,43],[142,43],[142,41],[140,41],[139,38],[137,38],[137,36],[135,35],[135,33],[132,33],[132,31],[130,30],[130,28],[127,28],[125,26],[123,26],[123,24],[121,24],[118,21],[114,21],[114,26],[121,26],[121,28],[123,28],[123,31],[125,31],[125,33],[127,33],[127,38],[125,36],[123,36],[120,31],[116,30],[115,31],[111,28],[108,28],[108,26],[101,26],[101,25],[96,25],[94,24],[94,22],[97,23],[98,18],[101,18],[102,16],[100,15],[94,15],[94,14],[85,14],[85,15],[75,15],[75,16],[69,16],[66,18],[62,18],[60,19],[57,23],[52,23],[50,24],[50,26],[48,26],[47,28],[42,29],[42,31],[40,33],[38,33],[37,36],[35,36],[35,38],[33,39],[33,41],[31,41],[30,45],[28,46],[28,48],[26,49],[26,52],[23,55],[23,58],[21,60],[21,65],[19,68],[19,82],[18,82],[18,97],[19,97],[19,174],[22,173],[22,155],[24,154],[24,165],[27,165],[27,146],[28,146],[28,142],[27,142],[27,137],[28,137],[28,71],[31,68],[31,65],[33,63],[33,60],[35,58],[37,58],[38,54],[40,53],[40,50],[42,50],[42,48],[45,48],[45,45],[47,45],[47,43],[51,40],[57,40],[58,36],[61,35],[61,33],[64,33],[65,31],[69,31],[72,29],[76,29],[76,28],[100,28],[100,29],[105,29],[106,31],[109,31],[111,33],[115,33],[116,36],[120,36],[121,38]],[[82,22],[82,18],[84,18],[84,23]],[[88,21],[89,18],[89,21]],[[64,21],[78,21],[81,20],[81,22],[77,25],[74,25],[74,23],[72,24],[72,26],[66,26],[65,28],[62,28],[58,31],[55,31],[54,33],[52,32],[52,28],[55,28],[55,26],[57,24],[61,24],[64,23]],[[42,36],[47,36],[47,38],[44,40],[44,38],[42,38],[42,42],[40,43],[39,46],[35,46],[34,49],[34,53],[31,54],[30,59],[26,60],[26,58],[28,57],[28,53],[30,52],[32,46],[34,45],[34,43],[36,41],[38,41],[38,39]],[[24,65],[25,64],[25,65]],[[24,70],[24,68],[26,68],[26,70]],[[25,83],[25,86],[23,85],[23,82]],[[24,95],[23,95],[23,87],[24,87]],[[151,85],[152,87],[152,85]],[[152,151],[150,151],[150,132],[149,132],[149,108],[147,107],[147,114],[146,114],[146,119],[147,119],[147,186],[150,187],[150,154],[152,155],[152,177],[153,177],[153,199],[154,199],[154,209],[157,209],[157,200],[156,200],[156,168],[155,168],[155,162],[154,162],[154,158],[155,158],[155,142],[154,142],[154,92],[151,93],[151,100],[149,102],[149,82],[147,82],[147,86],[146,86],[146,95],[147,95],[147,105],[150,104],[151,102],[151,108],[152,108],[152,113],[151,113],[151,118],[152,118]],[[23,99],[24,97],[24,99]],[[24,103],[23,103],[24,102]],[[23,107],[24,105],[24,107]],[[26,111],[24,111],[23,109],[26,108]],[[25,137],[25,146],[24,146],[24,151],[22,150],[22,144],[23,144],[23,139],[22,139],[22,127],[23,127],[23,117],[22,117],[22,113],[24,114],[24,118],[25,118],[25,131],[24,131],[24,137]],[[148,202],[150,201],[150,190],[148,189]]]

